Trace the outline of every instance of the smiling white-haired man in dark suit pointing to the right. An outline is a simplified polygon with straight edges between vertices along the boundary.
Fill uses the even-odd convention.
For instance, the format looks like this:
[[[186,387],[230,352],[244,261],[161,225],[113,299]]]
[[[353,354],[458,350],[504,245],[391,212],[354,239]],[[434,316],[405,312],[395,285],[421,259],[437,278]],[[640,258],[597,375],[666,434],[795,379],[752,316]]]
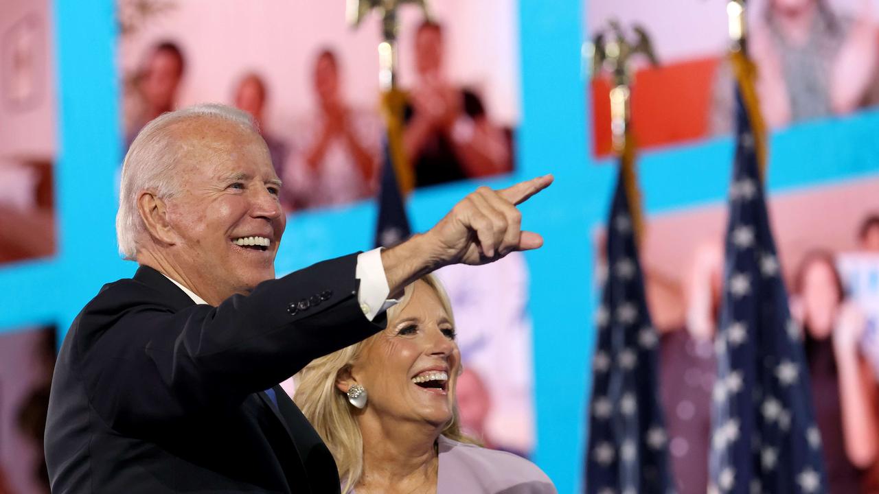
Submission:
[[[514,207],[551,177],[480,187],[423,235],[275,279],[286,218],[244,113],[201,105],[144,127],[117,233],[140,268],[76,317],[46,428],[52,490],[338,492],[332,456],[277,386],[381,331],[389,294],[454,263],[534,249]]]

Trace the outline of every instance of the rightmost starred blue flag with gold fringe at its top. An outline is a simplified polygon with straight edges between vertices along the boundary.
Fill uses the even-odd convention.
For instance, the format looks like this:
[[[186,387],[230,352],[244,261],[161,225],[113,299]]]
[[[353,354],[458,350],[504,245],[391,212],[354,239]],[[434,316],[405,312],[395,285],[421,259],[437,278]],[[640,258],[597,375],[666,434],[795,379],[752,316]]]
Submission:
[[[716,335],[708,492],[827,491],[801,332],[788,310],[759,171],[749,65],[737,64],[737,143]]]

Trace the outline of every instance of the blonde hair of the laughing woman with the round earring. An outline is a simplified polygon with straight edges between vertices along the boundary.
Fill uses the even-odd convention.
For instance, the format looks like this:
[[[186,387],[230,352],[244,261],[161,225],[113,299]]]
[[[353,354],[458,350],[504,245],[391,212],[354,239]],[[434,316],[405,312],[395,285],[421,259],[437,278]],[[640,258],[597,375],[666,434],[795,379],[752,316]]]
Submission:
[[[424,281],[437,294],[439,302],[443,309],[446,309],[449,320],[454,326],[452,304],[439,280],[428,274],[420,281]],[[414,285],[415,283],[412,283],[405,287],[403,298],[388,310],[389,323],[396,319],[409,303]],[[379,334],[313,360],[296,374],[298,380],[294,402],[330,448],[333,459],[336,460],[338,476],[343,483],[343,494],[350,492],[363,475],[363,436],[352,415],[352,405],[348,403],[348,397],[336,388],[336,380],[338,373],[351,367],[360,358],[367,345],[370,345]],[[461,368],[456,372],[460,373]],[[456,403],[456,400],[453,403]],[[461,433],[457,404],[454,406],[452,419],[441,433],[452,440],[474,442]]]

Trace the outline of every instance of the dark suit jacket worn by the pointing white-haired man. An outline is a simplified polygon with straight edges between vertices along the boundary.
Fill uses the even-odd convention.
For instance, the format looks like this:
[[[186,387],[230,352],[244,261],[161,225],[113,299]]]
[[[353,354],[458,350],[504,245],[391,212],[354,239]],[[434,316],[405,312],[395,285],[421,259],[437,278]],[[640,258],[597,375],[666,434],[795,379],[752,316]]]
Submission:
[[[356,255],[195,305],[141,267],[76,317],[46,425],[52,490],[338,492],[336,464],[275,386],[380,331],[357,299]]]

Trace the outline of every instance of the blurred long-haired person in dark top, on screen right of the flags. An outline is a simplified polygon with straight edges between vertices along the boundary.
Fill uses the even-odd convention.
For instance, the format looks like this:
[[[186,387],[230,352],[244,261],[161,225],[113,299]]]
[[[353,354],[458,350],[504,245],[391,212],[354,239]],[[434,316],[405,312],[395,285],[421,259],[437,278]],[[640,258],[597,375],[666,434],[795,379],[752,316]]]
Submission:
[[[803,327],[812,397],[832,494],[861,491],[879,454],[876,383],[859,351],[865,321],[832,254],[810,251],[795,272],[791,313]]]

